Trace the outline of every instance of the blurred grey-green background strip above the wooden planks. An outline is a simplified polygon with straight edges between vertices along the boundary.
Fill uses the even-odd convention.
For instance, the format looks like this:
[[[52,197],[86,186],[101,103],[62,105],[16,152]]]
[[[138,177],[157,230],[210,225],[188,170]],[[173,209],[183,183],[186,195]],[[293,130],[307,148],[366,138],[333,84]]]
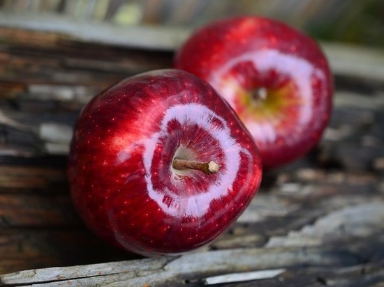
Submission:
[[[384,47],[382,0],[0,0],[0,11],[187,29],[230,15],[265,15],[319,40]]]

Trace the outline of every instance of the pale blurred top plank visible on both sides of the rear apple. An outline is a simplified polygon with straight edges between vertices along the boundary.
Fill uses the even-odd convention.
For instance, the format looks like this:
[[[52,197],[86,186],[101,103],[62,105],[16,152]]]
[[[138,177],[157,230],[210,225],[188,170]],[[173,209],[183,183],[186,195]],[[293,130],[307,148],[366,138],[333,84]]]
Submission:
[[[54,24],[52,24],[54,23]],[[73,21],[57,15],[17,15],[0,12],[0,26],[59,33],[83,42],[174,51],[191,35],[191,29],[169,26],[116,26],[102,22]],[[377,49],[321,43],[337,75],[384,81],[384,52]]]

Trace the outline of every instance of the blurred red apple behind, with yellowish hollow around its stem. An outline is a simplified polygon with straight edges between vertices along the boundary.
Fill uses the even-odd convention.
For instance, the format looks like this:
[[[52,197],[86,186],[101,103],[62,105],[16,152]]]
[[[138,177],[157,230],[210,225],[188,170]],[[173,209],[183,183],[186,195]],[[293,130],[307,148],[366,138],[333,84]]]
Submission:
[[[309,152],[330,118],[327,59],[311,38],[274,20],[235,17],[202,26],[177,52],[175,68],[205,79],[230,103],[265,168]]]

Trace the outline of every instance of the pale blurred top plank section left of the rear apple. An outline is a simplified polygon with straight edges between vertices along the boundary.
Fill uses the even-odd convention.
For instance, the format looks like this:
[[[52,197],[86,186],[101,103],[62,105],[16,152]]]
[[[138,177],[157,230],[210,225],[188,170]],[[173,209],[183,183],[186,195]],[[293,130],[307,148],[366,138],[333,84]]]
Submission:
[[[174,49],[189,33],[179,27],[117,26],[74,21],[58,15],[17,15],[3,12],[0,12],[0,26],[60,33],[84,42],[167,51]]]

